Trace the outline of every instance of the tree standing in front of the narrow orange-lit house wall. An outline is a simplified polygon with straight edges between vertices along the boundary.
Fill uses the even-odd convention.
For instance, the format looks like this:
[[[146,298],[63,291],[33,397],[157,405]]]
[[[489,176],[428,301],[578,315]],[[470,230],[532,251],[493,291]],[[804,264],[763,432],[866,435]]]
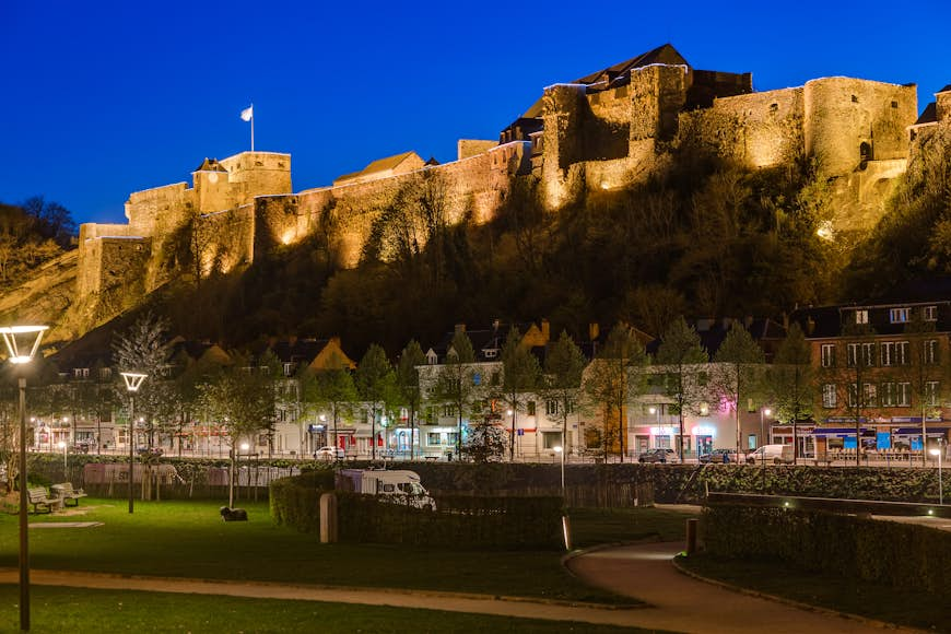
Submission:
[[[591,363],[585,388],[592,400],[604,406],[604,458],[610,447],[610,416],[618,412],[618,439],[624,461],[624,415],[632,397],[643,392],[647,354],[634,329],[620,322]]]

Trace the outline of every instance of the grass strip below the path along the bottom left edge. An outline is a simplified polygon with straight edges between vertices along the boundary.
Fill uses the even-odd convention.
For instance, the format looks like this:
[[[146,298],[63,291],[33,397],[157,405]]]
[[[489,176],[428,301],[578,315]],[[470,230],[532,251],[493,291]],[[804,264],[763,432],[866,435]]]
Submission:
[[[15,585],[0,585],[0,632],[19,629]],[[34,586],[33,632],[631,632],[623,627],[322,603]],[[641,630],[637,630],[641,632]]]

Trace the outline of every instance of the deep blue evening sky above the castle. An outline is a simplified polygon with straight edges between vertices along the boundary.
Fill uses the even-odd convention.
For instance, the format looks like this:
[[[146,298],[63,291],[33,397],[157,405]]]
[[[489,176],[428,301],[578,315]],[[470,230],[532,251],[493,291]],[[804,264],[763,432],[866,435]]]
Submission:
[[[455,157],[545,85],[665,42],[756,90],[849,75],[951,83],[951,2],[0,3],[0,201],[124,222],[206,156],[293,154],[294,190],[374,158]]]

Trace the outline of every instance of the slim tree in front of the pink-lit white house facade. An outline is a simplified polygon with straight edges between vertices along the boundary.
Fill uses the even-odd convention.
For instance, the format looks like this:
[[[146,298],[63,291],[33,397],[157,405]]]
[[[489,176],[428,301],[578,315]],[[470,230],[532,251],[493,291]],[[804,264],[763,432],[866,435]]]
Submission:
[[[740,455],[740,403],[755,396],[762,386],[766,355],[740,322],[733,321],[726,339],[714,355],[714,392],[733,411],[737,423],[737,456]]]

